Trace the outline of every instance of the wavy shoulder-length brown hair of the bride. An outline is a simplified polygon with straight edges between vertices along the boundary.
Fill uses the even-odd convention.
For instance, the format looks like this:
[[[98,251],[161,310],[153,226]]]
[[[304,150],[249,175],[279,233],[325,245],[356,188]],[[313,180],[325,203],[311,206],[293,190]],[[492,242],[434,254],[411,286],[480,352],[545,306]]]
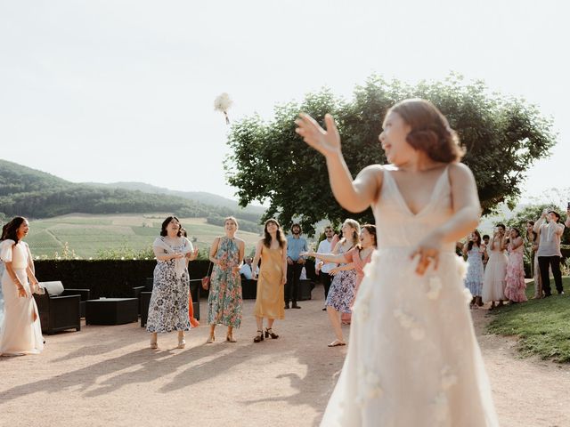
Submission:
[[[414,149],[424,151],[436,162],[457,162],[465,154],[460,147],[457,133],[450,127],[447,119],[429,101],[411,99],[400,101],[388,110],[403,118],[411,131],[406,141]]]

